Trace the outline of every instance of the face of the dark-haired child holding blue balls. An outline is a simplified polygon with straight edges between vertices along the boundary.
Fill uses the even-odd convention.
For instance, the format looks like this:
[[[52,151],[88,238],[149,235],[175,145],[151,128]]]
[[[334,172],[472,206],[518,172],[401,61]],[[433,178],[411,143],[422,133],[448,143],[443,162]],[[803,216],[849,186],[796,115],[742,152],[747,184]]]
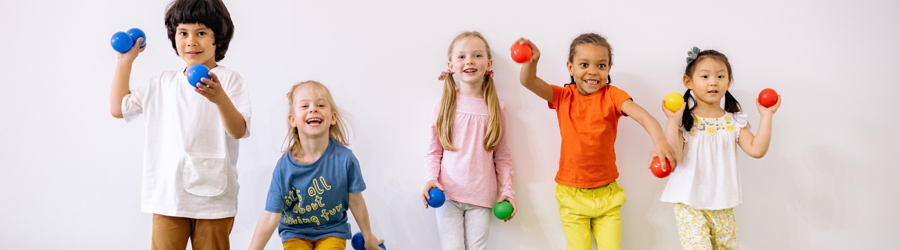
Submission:
[[[216,45],[212,30],[200,23],[178,23],[175,49],[188,66],[216,67]]]

